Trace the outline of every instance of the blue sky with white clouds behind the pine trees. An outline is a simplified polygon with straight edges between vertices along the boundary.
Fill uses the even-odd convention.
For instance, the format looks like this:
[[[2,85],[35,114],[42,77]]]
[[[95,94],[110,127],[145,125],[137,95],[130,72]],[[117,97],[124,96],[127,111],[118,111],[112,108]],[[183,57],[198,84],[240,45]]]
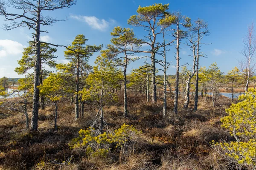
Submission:
[[[130,27],[134,29],[137,37],[143,38],[146,31],[127,24],[131,15],[137,14],[138,6],[149,6],[154,3],[169,3],[169,11],[180,11],[183,15],[191,17],[192,20],[201,18],[208,22],[210,35],[204,37],[202,51],[207,58],[201,59],[201,65],[208,67],[217,62],[221,71],[227,73],[238,65],[242,58],[240,54],[243,48],[242,37],[246,34],[247,25],[256,17],[255,0],[77,0],[77,4],[71,8],[50,11],[47,14],[58,19],[67,17],[67,21],[55,23],[53,26],[44,28],[48,34],[41,34],[44,41],[59,45],[70,44],[77,34],[84,34],[88,44],[110,43],[110,32],[115,26]],[[43,14],[43,15],[47,15]],[[3,17],[0,17],[0,24]],[[2,25],[2,24],[1,24]],[[31,32],[28,28],[16,28],[11,31],[0,29],[0,77],[24,77],[13,71],[18,66],[17,60],[22,57],[24,47],[28,46]],[[169,37],[172,40],[172,37]],[[185,42],[183,40],[183,42]],[[181,64],[191,63],[189,48],[181,43]],[[57,62],[67,62],[64,57],[64,48],[58,48]],[[99,53],[90,58],[90,64]],[[137,54],[141,56],[143,54]],[[168,74],[175,74],[174,46],[168,53],[168,61],[172,67]],[[129,65],[128,70],[137,68],[143,61],[136,61]]]

